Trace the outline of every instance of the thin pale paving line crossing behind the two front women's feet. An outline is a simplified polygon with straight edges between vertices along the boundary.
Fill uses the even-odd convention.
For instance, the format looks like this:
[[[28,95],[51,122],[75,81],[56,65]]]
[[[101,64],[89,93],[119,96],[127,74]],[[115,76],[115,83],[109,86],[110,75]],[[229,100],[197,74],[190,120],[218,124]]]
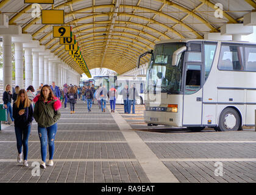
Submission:
[[[27,159],[28,162],[33,162],[33,161],[38,161],[40,162],[41,159],[40,158],[34,158],[34,159]],[[53,159],[54,162],[93,162],[93,161],[104,161],[104,162],[108,162],[108,161],[119,161],[119,162],[123,162],[123,161],[137,161],[137,159],[129,159],[129,158],[124,158],[124,159],[101,159],[101,158],[81,158],[81,159],[73,159],[73,158],[67,158],[67,159]],[[0,162],[17,162],[17,159],[0,159]]]

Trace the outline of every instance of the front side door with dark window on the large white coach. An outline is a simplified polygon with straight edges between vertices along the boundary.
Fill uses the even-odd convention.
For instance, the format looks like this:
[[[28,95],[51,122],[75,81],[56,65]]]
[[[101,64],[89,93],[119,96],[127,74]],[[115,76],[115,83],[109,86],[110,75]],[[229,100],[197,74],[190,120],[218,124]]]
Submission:
[[[201,44],[198,44],[201,45]],[[201,46],[196,51],[186,52],[184,93],[183,93],[183,125],[202,124],[202,62]]]

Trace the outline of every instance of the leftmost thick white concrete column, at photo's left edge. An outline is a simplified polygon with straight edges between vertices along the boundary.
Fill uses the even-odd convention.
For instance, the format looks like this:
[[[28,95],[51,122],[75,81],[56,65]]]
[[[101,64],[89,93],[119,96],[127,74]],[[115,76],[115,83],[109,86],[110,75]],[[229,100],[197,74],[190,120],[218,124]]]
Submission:
[[[9,84],[12,86],[12,37],[10,35],[2,36],[2,68],[3,68],[3,87]]]

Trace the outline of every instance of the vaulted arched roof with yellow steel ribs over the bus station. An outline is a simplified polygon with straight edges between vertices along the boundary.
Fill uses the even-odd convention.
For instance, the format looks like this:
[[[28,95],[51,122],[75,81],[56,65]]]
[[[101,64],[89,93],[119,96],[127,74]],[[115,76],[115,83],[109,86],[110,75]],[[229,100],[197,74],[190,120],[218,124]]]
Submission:
[[[135,68],[138,55],[159,40],[203,38],[207,32],[219,32],[223,24],[243,22],[243,15],[256,9],[254,0],[218,2],[224,8],[222,18],[215,18],[217,1],[212,0],[55,0],[53,6],[41,7],[65,11],[65,23],[73,27],[89,69],[105,67],[121,74]],[[53,25],[31,17],[32,5],[2,0],[0,10],[9,16],[9,24],[21,25],[23,33],[82,74],[59,38],[52,36]]]

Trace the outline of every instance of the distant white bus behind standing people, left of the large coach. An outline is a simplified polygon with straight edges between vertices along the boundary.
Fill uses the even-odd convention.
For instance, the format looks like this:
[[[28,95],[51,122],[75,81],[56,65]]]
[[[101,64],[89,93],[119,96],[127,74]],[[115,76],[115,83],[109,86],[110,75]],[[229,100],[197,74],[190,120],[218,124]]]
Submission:
[[[144,104],[144,91],[146,89],[146,76],[117,76],[115,80],[115,88],[118,92],[116,104],[124,104],[122,90],[127,85],[128,88],[135,84],[138,90],[136,104]]]

